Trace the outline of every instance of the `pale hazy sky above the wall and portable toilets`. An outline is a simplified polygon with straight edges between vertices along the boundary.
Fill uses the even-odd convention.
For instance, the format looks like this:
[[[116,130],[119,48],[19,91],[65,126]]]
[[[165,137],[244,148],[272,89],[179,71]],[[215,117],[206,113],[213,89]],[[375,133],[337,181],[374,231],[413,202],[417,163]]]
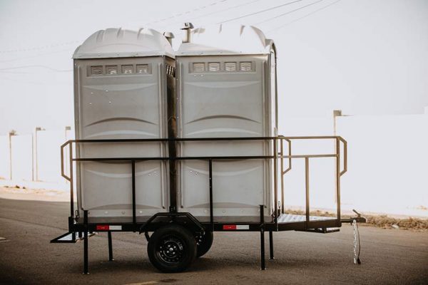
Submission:
[[[173,31],[178,48],[184,21],[216,24],[292,1],[0,0],[0,135],[73,123],[71,56],[99,29]],[[427,0],[301,0],[230,23],[275,40],[282,121],[428,106]]]

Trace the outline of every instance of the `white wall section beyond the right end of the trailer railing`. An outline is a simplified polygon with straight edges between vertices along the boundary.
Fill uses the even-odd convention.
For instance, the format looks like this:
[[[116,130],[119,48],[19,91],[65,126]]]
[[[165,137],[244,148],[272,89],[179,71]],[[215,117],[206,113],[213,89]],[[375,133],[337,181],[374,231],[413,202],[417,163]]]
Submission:
[[[337,129],[349,143],[343,204],[428,216],[428,115],[340,117]]]

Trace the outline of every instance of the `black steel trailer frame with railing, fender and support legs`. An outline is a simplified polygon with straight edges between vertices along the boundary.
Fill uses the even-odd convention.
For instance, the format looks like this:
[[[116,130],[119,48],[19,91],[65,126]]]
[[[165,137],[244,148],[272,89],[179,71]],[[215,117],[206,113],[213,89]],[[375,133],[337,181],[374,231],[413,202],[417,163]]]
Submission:
[[[73,157],[73,144],[85,144],[85,143],[124,143],[124,142],[163,142],[168,143],[168,145],[176,144],[179,142],[203,142],[203,141],[264,141],[270,142],[269,148],[272,155],[249,155],[249,156],[194,156],[194,157]],[[327,155],[292,155],[291,154],[291,142],[292,140],[335,140],[336,152]],[[277,151],[277,144],[280,142],[280,152]],[[288,154],[284,155],[283,148],[284,143],[288,144]],[[343,143],[343,162],[344,169],[340,171],[340,143]],[[64,148],[68,146],[68,156],[69,156],[69,176],[64,172]],[[272,147],[272,148],[271,148]],[[309,160],[310,158],[318,157],[335,157],[336,160],[336,195],[337,195],[337,217],[336,219],[326,219],[320,221],[310,221],[310,204],[309,204]],[[305,159],[305,190],[306,190],[306,207],[305,207],[305,222],[287,222],[279,223],[278,217],[280,214],[285,213],[284,209],[284,183],[283,176],[285,173],[291,170],[292,159],[294,158],[304,158]],[[277,189],[277,160],[280,160],[280,174],[281,174],[281,201],[279,205],[278,200],[278,189]],[[288,159],[288,167],[284,170],[283,160]],[[136,162],[143,161],[180,161],[180,160],[205,160],[208,161],[208,174],[209,174],[209,202],[210,202],[210,222],[199,222],[198,219],[193,217],[192,214],[186,212],[177,212],[177,205],[175,195],[176,193],[170,193],[170,207],[168,212],[159,212],[153,217],[149,218],[146,222],[137,222],[136,219]],[[260,205],[260,222],[215,222],[213,215],[213,161],[214,160],[273,160],[273,175],[274,175],[274,211],[272,212],[272,221],[265,222],[265,205]],[[326,229],[331,227],[341,227],[342,222],[340,219],[340,176],[342,176],[347,171],[347,142],[340,136],[312,136],[312,137],[253,137],[253,138],[161,138],[161,139],[110,139],[110,140],[68,140],[63,145],[61,145],[61,175],[68,182],[70,182],[70,217],[68,217],[68,233],[72,234],[73,242],[76,242],[77,239],[83,239],[84,242],[84,265],[83,272],[88,273],[88,234],[93,232],[99,232],[96,229],[96,225],[100,223],[90,223],[88,222],[88,211],[83,210],[83,224],[78,222],[78,217],[75,216],[74,211],[74,197],[73,197],[73,162],[130,162],[131,163],[131,172],[132,172],[132,222],[123,222],[123,223],[102,223],[107,225],[121,225],[121,230],[118,232],[144,232],[146,238],[148,238],[148,232],[153,232],[159,227],[165,225],[165,218],[167,222],[175,221],[178,218],[188,219],[191,225],[194,227],[194,232],[203,233],[204,231],[233,231],[230,229],[224,229],[223,226],[228,224],[245,224],[248,225],[248,229],[239,229],[235,231],[239,232],[260,232],[260,254],[261,254],[261,269],[265,269],[265,231],[269,232],[269,242],[270,242],[270,259],[273,257],[273,237],[272,232],[278,231],[287,231],[287,230],[296,230],[296,231],[310,231],[310,232],[328,232]],[[172,197],[174,196],[174,197]],[[281,209],[279,209],[281,207]],[[77,211],[76,211],[77,212]],[[155,222],[158,217],[163,217],[163,221]],[[76,234],[78,237],[76,238]],[[82,237],[83,234],[83,237]],[[63,234],[61,237],[65,236]],[[53,239],[51,242],[61,242],[60,238]],[[111,242],[111,231],[108,231],[108,252],[109,260],[113,260],[113,249]]]

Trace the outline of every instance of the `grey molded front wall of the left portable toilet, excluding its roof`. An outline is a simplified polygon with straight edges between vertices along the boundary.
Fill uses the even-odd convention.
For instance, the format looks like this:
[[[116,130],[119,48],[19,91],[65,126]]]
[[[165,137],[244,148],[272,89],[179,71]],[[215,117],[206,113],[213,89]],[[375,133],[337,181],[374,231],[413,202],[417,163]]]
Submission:
[[[76,60],[75,63],[76,138],[166,137],[164,58]],[[150,72],[130,72],[135,72],[140,64],[147,64]],[[102,74],[91,73],[92,66],[101,67]],[[111,70],[117,73],[109,74]],[[158,142],[97,142],[81,144],[77,156],[160,157],[166,155],[165,151],[165,146]],[[131,162],[80,162],[77,173],[79,207],[91,210],[91,217],[132,216]],[[136,162],[138,216],[165,212],[167,181],[165,162]]]

